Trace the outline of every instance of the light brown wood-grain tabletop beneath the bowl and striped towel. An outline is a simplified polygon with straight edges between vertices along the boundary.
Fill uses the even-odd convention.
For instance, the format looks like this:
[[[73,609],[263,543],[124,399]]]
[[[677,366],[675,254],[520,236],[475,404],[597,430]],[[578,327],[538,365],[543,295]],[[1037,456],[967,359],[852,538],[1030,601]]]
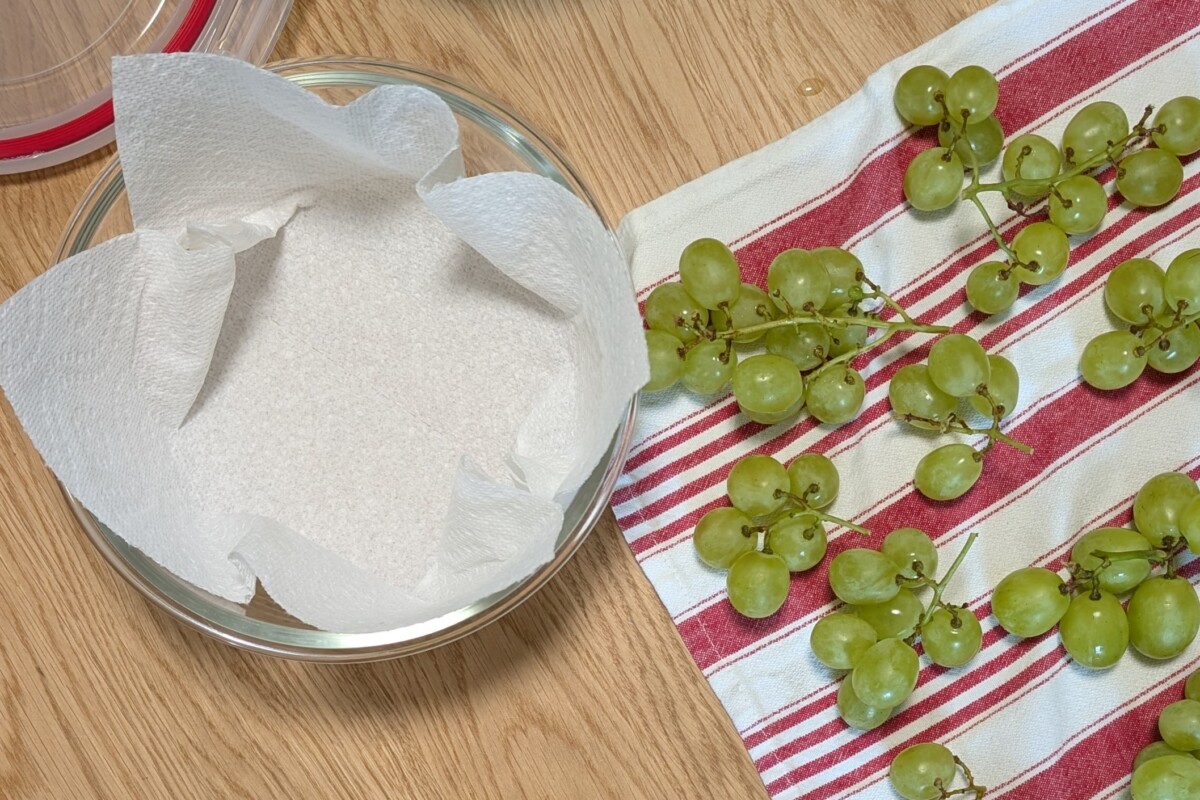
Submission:
[[[455,76],[557,143],[610,222],[808,122],[986,0],[296,0],[275,55]],[[0,300],[108,158],[0,176]],[[364,667],[152,609],[0,414],[0,796],[751,798],[746,752],[610,513],[485,631]]]

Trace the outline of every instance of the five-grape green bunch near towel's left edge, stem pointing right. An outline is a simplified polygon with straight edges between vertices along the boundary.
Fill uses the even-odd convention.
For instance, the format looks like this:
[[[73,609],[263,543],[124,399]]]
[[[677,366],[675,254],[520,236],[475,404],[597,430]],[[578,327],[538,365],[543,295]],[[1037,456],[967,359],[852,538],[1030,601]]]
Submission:
[[[730,604],[751,619],[770,616],[787,600],[792,572],[824,558],[826,522],[870,533],[822,511],[838,497],[838,468],[820,453],[798,456],[785,469],[770,456],[746,456],[725,488],[731,506],[713,509],[696,525],[700,560],[725,578]]]

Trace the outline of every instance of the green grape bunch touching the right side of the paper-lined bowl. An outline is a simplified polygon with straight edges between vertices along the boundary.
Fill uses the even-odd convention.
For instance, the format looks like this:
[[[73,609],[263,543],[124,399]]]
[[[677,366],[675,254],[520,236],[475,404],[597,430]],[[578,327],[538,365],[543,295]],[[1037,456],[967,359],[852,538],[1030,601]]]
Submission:
[[[882,319],[883,308],[899,319]],[[821,422],[852,420],[866,395],[854,356],[902,330],[947,330],[913,320],[839,247],[784,251],[768,267],[764,291],[743,283],[736,257],[715,239],[684,248],[679,281],[646,299],[646,325],[644,391],[682,383],[713,395],[732,385],[742,413],[764,425],[805,407]],[[869,342],[871,329],[883,335]]]

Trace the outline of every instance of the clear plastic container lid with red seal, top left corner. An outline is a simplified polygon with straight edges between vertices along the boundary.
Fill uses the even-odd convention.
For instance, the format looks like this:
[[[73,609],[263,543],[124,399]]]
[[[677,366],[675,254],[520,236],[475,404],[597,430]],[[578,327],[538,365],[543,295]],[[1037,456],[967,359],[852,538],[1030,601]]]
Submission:
[[[0,175],[113,140],[112,59],[224,53],[262,64],[292,0],[0,0]]]

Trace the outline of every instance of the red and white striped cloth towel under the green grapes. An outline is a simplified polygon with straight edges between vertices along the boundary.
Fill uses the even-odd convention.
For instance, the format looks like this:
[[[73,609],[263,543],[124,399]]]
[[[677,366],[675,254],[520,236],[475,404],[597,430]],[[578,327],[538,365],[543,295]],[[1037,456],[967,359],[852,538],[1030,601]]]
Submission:
[[[1102,229],[1076,237],[1066,275],[1027,291],[998,317],[970,313],[962,284],[996,248],[974,209],[918,215],[901,192],[905,167],[931,130],[906,130],[892,106],[896,78],[917,64],[953,71],[982,64],[1000,78],[1006,134],[1058,140],[1080,106],[1111,100],[1136,119],[1148,104],[1200,95],[1196,0],[1014,0],[992,6],[874,74],[862,91],[800,131],[631,212],[620,225],[640,297],[674,275],[695,237],[728,242],[748,279],[788,247],[850,248],[878,283],[923,321],[952,325],[1021,374],[1008,431],[1036,449],[997,447],[962,499],[934,504],[912,487],[930,437],[889,419],[887,381],[924,360],[929,336],[895,337],[860,359],[866,402],[841,427],[767,427],[746,421],[730,397],[668,391],[643,398],[636,444],[613,495],[617,519],[696,663],[740,732],[775,798],[893,798],[887,766],[905,746],[948,745],[992,788],[991,798],[1110,798],[1154,738],[1158,710],[1181,697],[1200,664],[1200,643],[1151,663],[1134,654],[1093,673],[1073,664],[1056,633],[1008,637],[989,615],[990,590],[1012,570],[1061,567],[1084,533],[1130,519],[1134,493],[1152,475],[1200,476],[1200,369],[1147,374],[1118,392],[1078,378],[1079,353],[1109,330],[1102,289],[1120,261],[1166,264],[1200,246],[1200,161],[1186,160],[1180,197],[1156,211],[1112,203]],[[1112,191],[1112,170],[1100,175]],[[1009,235],[1027,224],[992,198]],[[942,441],[948,441],[943,439]],[[809,650],[812,624],[832,609],[826,566],[793,576],[784,608],[746,620],[725,600],[724,573],[706,569],[691,531],[724,505],[730,467],[751,452],[788,461],[823,452],[838,464],[833,512],[875,531],[926,530],[949,564],[966,534],[980,531],[947,594],[970,602],[984,625],[979,655],[964,668],[924,663],[912,698],[871,733],[836,717],[838,676]],[[830,555],[862,540],[830,531]],[[1183,569],[1193,581],[1200,563]]]

